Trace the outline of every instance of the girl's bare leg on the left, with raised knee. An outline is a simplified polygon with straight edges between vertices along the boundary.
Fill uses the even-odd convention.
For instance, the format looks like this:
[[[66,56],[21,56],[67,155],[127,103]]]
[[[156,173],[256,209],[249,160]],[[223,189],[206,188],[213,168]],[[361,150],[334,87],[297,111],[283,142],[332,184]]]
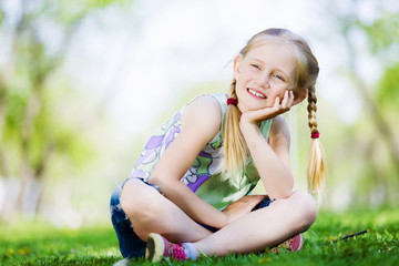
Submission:
[[[134,232],[143,241],[150,233],[162,234],[172,242],[195,242],[212,234],[140,180],[132,178],[124,184],[120,201]]]

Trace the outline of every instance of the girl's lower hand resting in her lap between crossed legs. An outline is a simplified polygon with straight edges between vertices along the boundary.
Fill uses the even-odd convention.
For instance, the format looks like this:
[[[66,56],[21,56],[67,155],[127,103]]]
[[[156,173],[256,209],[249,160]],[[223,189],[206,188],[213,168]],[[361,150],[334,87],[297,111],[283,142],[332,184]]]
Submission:
[[[231,224],[243,215],[250,213],[253,208],[265,197],[265,195],[247,195],[234,203],[231,203],[225,209],[223,209],[223,213],[227,216],[227,224]]]

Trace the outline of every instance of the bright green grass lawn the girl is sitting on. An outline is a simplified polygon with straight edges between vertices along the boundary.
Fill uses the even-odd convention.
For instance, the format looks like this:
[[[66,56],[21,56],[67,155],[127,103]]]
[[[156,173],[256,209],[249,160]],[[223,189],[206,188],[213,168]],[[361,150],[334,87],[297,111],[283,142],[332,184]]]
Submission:
[[[341,239],[368,229],[368,233]],[[229,255],[158,265],[398,265],[399,211],[320,213],[300,253]],[[0,265],[112,265],[121,259],[112,225],[59,229],[0,224]],[[151,265],[143,259],[131,265]]]

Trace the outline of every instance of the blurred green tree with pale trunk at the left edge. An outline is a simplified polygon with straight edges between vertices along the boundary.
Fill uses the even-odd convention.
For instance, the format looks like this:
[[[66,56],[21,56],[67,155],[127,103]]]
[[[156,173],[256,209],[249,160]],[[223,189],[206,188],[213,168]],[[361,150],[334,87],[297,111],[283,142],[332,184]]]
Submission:
[[[86,147],[76,125],[53,113],[62,104],[49,81],[63,62],[80,23],[113,0],[6,1],[0,3],[0,176],[19,180],[16,204],[4,196],[0,218],[35,213],[44,172],[55,154],[82,160]],[[53,82],[54,83],[54,82]],[[7,193],[11,193],[8,190]]]

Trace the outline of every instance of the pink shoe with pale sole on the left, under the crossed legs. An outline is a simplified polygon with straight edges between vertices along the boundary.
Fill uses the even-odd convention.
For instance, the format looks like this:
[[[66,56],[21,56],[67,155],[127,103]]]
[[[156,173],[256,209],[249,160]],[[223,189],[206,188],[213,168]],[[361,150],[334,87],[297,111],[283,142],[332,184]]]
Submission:
[[[151,233],[146,242],[145,258],[156,263],[164,257],[170,257],[175,260],[185,260],[186,254],[182,243],[178,245],[172,244],[160,234]]]

